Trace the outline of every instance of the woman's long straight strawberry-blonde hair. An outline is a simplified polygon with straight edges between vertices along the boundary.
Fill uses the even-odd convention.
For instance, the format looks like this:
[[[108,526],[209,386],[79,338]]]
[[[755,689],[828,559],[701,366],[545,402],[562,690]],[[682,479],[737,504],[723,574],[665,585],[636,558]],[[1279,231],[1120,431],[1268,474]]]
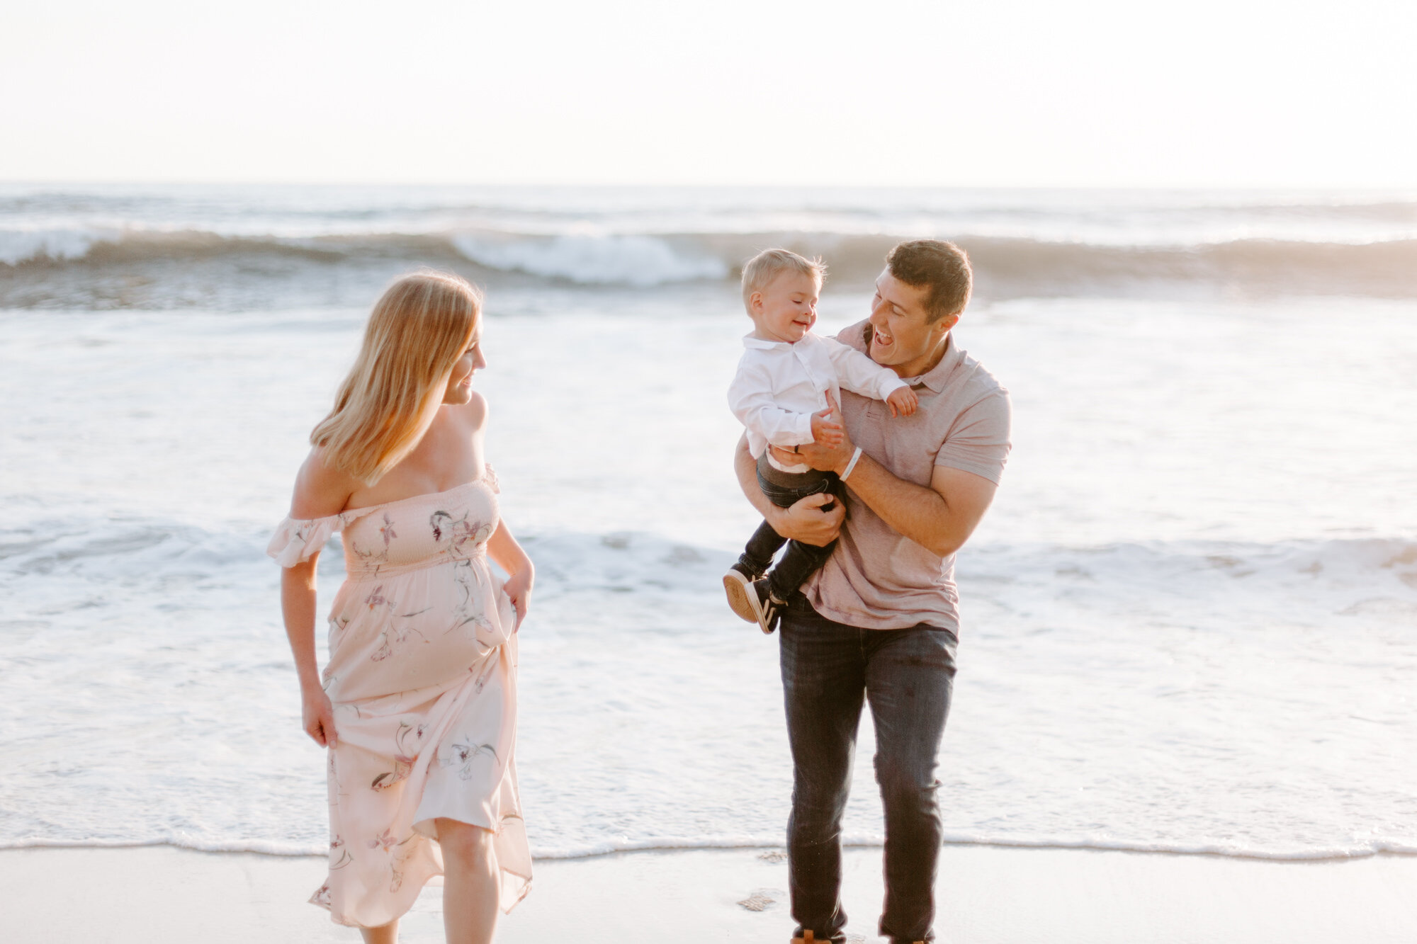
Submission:
[[[374,303],[364,343],[310,445],[373,485],[422,439],[482,315],[482,292],[451,272],[400,276]]]

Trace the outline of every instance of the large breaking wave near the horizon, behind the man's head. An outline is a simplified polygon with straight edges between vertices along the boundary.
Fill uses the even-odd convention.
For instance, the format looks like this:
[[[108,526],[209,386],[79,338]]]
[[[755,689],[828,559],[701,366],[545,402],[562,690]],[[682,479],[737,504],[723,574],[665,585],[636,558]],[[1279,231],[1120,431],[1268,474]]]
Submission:
[[[840,232],[557,234],[507,231],[222,235],[210,231],[0,231],[6,281],[84,274],[162,276],[154,266],[230,264],[231,278],[289,276],[340,264],[441,265],[473,278],[652,288],[735,279],[744,259],[782,245],[820,255],[835,283],[862,285],[898,235]],[[1417,240],[1309,242],[1272,238],[1185,245],[1115,245],[961,232],[983,296],[1087,295],[1206,286],[1280,295],[1417,296]],[[469,265],[472,266],[469,269]],[[218,274],[220,278],[220,274]],[[43,293],[41,293],[43,298]],[[3,302],[4,299],[0,299]],[[28,305],[23,305],[28,306]]]

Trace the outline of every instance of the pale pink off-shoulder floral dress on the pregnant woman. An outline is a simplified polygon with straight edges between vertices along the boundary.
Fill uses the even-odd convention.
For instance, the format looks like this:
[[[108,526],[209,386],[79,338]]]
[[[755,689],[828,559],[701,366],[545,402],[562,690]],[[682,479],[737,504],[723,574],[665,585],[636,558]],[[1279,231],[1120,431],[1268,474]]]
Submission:
[[[516,614],[487,568],[496,478],[313,520],[286,519],[282,567],[343,532],[347,577],[330,607],[324,692],[330,872],[310,899],[339,924],[377,927],[442,875],[434,819],[490,829],[510,911],[531,882],[513,758]]]

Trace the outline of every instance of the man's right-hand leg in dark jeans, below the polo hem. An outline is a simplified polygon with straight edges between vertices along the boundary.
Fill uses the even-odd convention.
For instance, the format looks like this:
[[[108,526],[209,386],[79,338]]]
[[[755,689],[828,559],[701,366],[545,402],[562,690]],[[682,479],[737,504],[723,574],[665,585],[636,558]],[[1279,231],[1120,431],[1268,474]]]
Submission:
[[[879,629],[867,642],[866,697],[876,724],[876,782],[886,808],[886,903],[880,933],[931,941],[944,822],[935,763],[949,714],[955,635]]]

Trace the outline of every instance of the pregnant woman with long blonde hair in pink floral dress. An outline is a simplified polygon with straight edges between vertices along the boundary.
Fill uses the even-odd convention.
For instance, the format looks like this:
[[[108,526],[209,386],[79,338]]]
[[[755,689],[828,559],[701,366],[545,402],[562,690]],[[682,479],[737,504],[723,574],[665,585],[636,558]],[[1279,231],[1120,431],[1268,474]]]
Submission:
[[[444,873],[449,941],[490,941],[531,879],[516,764],[516,632],[533,567],[483,462],[472,285],[419,271],[374,306],[334,410],[310,434],[268,553],[305,730],[329,747],[330,872],[310,899],[370,944]],[[347,577],[315,663],[315,567],[343,532]],[[487,568],[490,554],[509,575]]]

